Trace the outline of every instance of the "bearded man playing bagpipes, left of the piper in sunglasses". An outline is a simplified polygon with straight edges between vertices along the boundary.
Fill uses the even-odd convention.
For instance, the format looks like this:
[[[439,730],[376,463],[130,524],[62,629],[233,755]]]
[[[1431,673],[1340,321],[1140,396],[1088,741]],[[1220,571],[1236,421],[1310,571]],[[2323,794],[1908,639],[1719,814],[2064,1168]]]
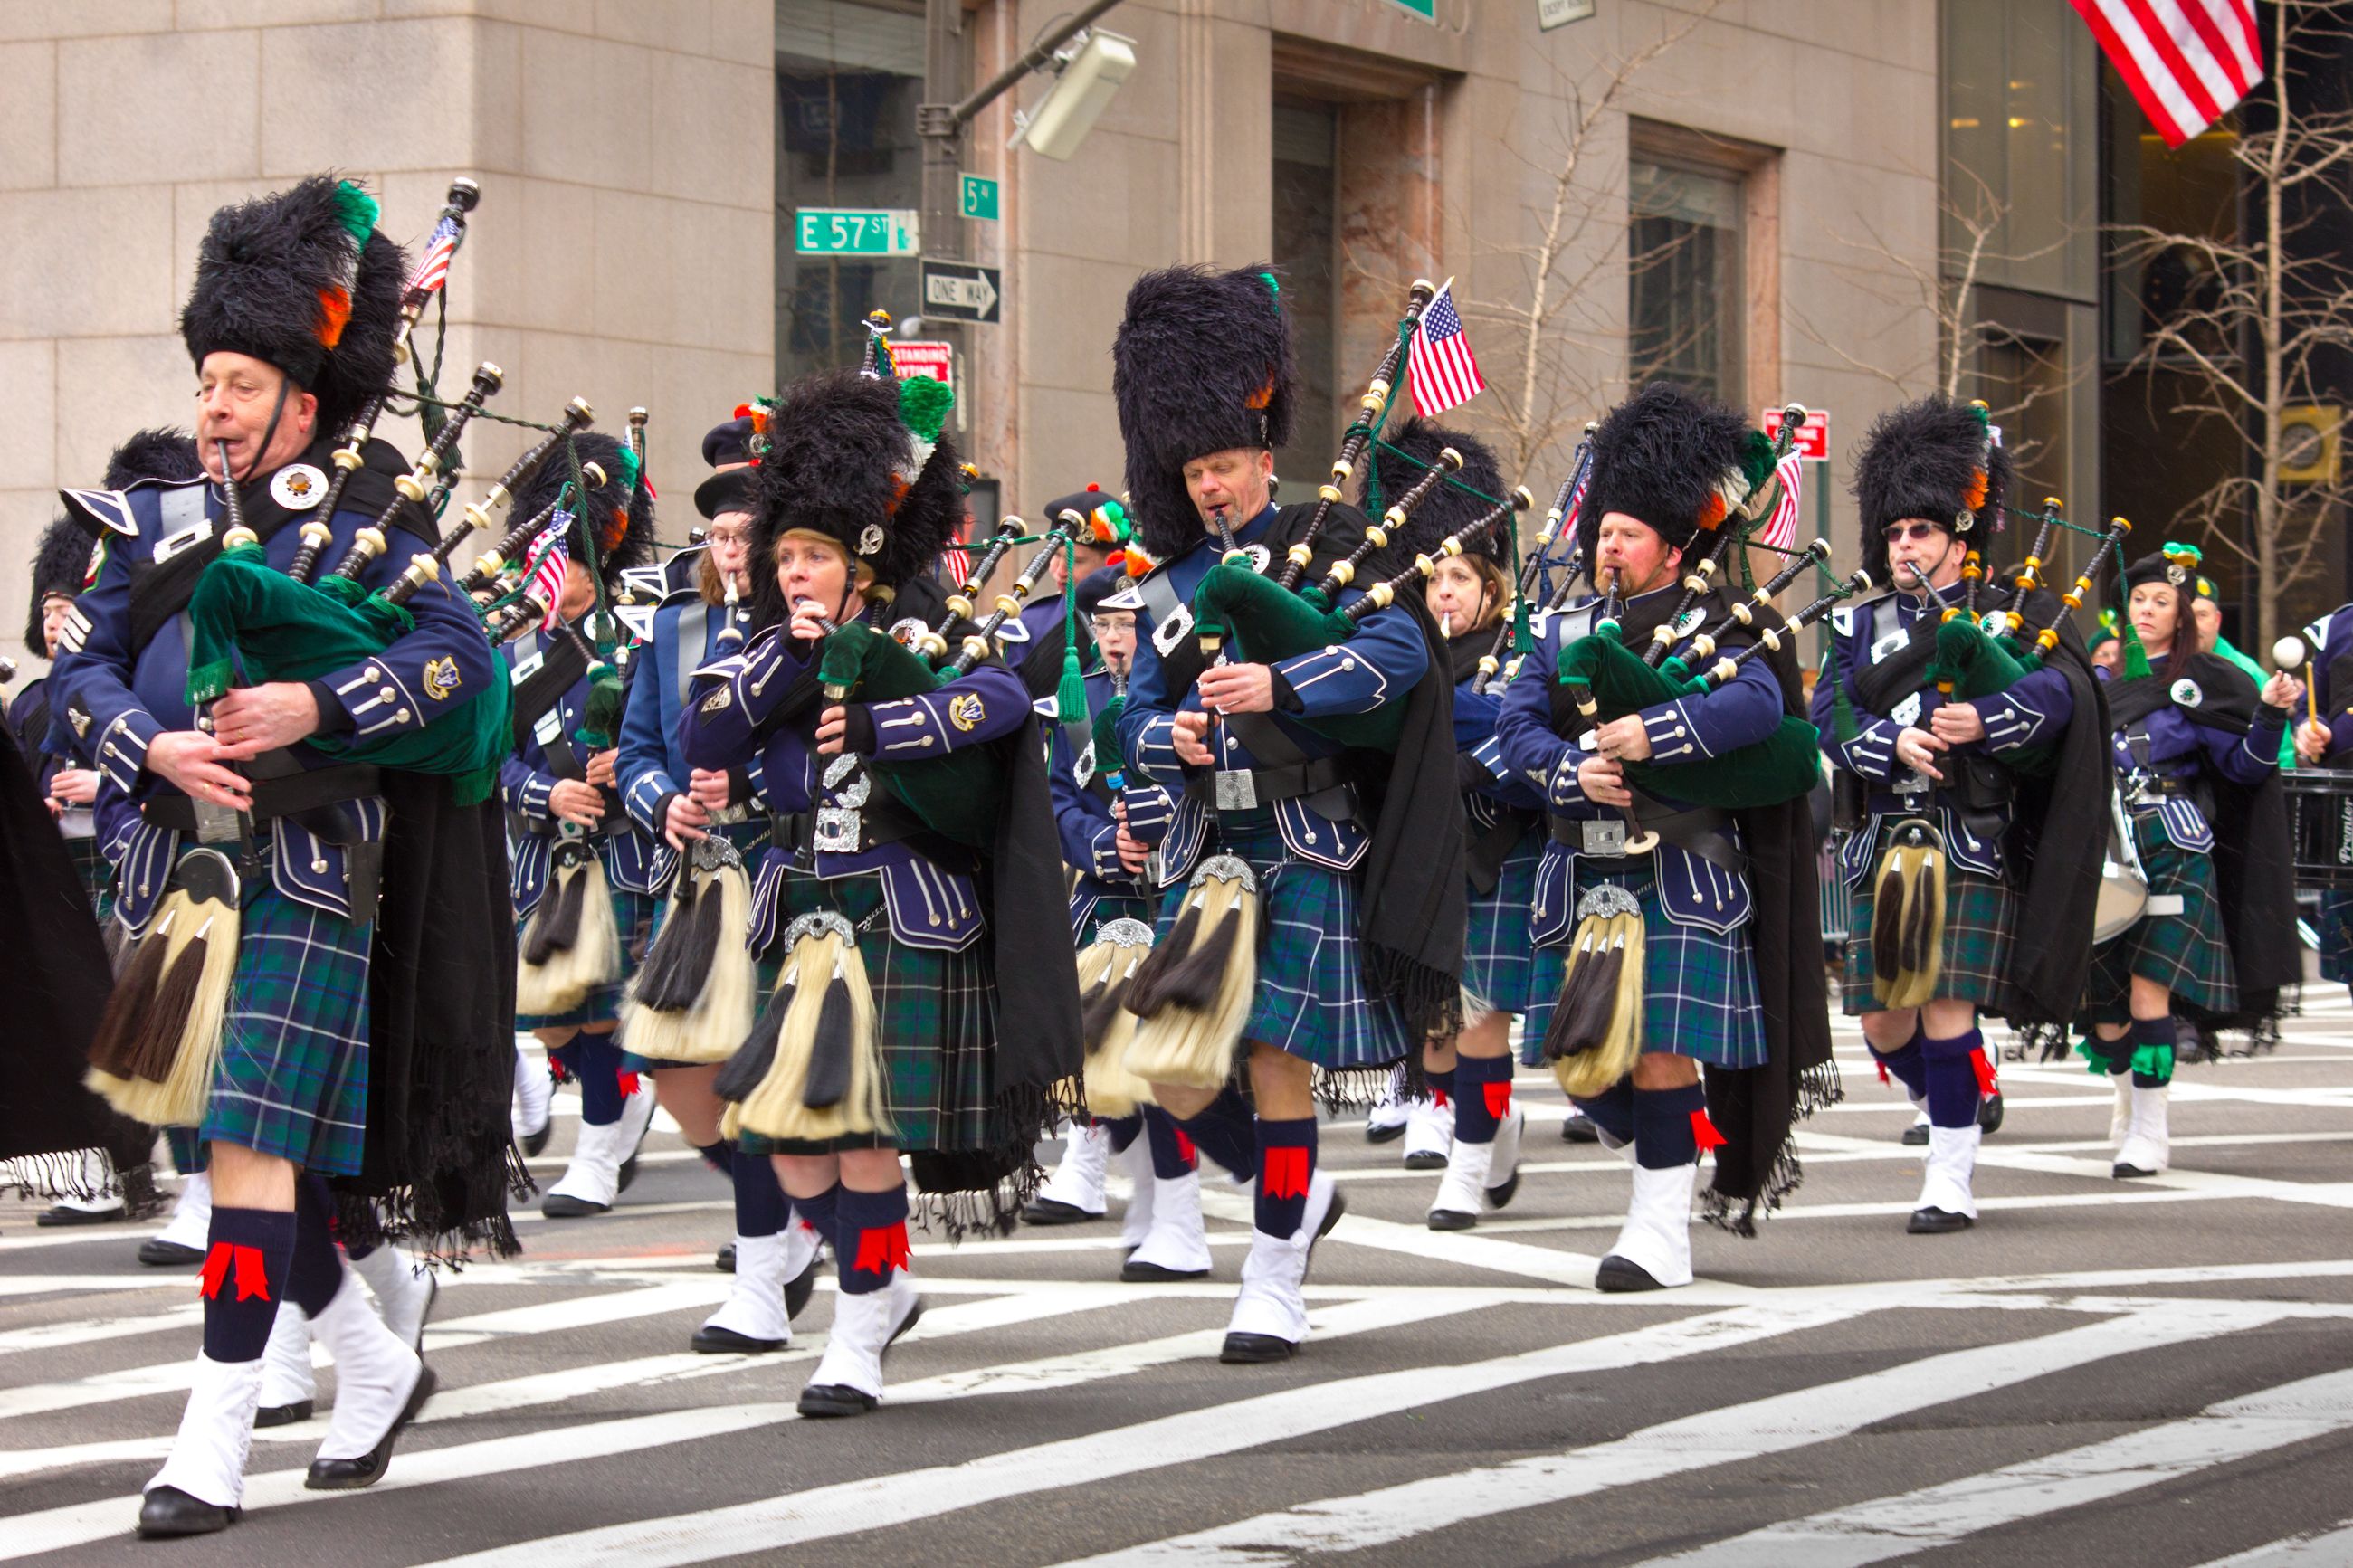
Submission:
[[[1711,517],[1722,520],[1722,487],[1741,468],[1744,433],[1737,414],[1668,383],[1645,386],[1595,430],[1577,527],[1588,576],[1621,607],[1626,646],[1645,646],[1673,614],[1685,552]],[[1722,604],[1711,592],[1697,609],[1713,621]],[[1795,670],[1751,658],[1704,696],[1586,731],[1555,670],[1595,611],[1546,618],[1537,651],[1504,693],[1494,733],[1508,773],[1541,780],[1551,818],[1532,922],[1529,1065],[1541,1060],[1579,924],[1621,912],[1640,919],[1640,1056],[1631,1074],[1581,1098],[1579,1110],[1633,1166],[1626,1227],[1595,1284],[1657,1291],[1692,1281],[1692,1187],[1704,1145],[1732,1145],[1718,1150],[1711,1206],[1741,1204],[1744,1213],[1727,1218],[1744,1229],[1755,1206],[1777,1204],[1795,1185],[1791,1117],[1838,1091],[1812,938],[1819,907],[1805,797],[1739,816],[1678,809],[1633,795],[1624,773],[1628,762],[1666,771],[1765,741],[1795,708]],[[1661,839],[1647,856],[1626,849],[1635,809]],[[1718,1093],[1746,1124],[1725,1114],[1732,1126],[1718,1131],[1708,1114]]]

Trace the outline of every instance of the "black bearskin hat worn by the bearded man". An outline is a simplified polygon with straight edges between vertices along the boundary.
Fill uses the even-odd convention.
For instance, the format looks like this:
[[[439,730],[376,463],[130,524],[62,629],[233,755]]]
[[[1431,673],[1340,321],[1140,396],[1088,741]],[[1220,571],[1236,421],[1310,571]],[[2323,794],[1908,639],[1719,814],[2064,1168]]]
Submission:
[[[1769,473],[1772,442],[1746,418],[1673,381],[1652,381],[1593,430],[1593,480],[1577,510],[1577,543],[1591,567],[1602,517],[1626,512],[1682,550]]]

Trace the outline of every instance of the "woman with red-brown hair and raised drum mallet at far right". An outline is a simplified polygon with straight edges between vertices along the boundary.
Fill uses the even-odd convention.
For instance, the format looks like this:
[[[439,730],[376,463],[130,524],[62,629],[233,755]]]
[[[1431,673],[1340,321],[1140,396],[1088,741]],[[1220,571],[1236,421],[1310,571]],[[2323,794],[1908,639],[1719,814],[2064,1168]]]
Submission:
[[[2257,691],[2207,651],[2193,583],[2195,557],[2172,545],[2125,571],[2108,682],[2115,788],[2148,875],[2148,912],[2094,950],[2085,985],[2082,1053],[2115,1081],[2118,1178],[2169,1164],[2174,1016],[2264,1030],[2301,954],[2278,769],[2304,682],[2280,672]]]

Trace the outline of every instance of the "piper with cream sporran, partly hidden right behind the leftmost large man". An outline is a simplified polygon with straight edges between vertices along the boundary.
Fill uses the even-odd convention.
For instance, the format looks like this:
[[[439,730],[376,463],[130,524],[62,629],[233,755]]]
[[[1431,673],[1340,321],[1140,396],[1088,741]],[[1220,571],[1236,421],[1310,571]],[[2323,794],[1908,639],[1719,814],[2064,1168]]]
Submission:
[[[539,1204],[551,1220],[607,1213],[638,1173],[654,1117],[652,1091],[621,1067],[614,1030],[654,919],[659,839],[621,811],[605,715],[619,677],[588,644],[621,574],[654,557],[654,494],[614,437],[576,435],[572,449],[586,496],[567,494],[572,463],[541,463],[515,496],[518,517],[560,508],[562,534],[551,527],[532,550],[565,550],[562,590],[539,628],[501,649],[515,693],[515,755],[499,771],[520,950],[515,1027],[536,1034],[551,1070],[581,1088],[579,1143]],[[591,712],[605,729],[591,729]]]

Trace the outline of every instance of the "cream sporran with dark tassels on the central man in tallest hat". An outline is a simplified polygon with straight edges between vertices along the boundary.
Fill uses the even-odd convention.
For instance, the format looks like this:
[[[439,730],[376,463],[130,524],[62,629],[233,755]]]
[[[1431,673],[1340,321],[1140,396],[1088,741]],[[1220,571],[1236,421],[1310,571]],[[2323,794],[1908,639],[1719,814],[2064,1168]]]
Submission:
[[[1136,1032],[1127,1070],[1151,1084],[1221,1086],[1257,980],[1259,879],[1235,856],[1209,856],[1193,872],[1169,938],[1129,980]]]

